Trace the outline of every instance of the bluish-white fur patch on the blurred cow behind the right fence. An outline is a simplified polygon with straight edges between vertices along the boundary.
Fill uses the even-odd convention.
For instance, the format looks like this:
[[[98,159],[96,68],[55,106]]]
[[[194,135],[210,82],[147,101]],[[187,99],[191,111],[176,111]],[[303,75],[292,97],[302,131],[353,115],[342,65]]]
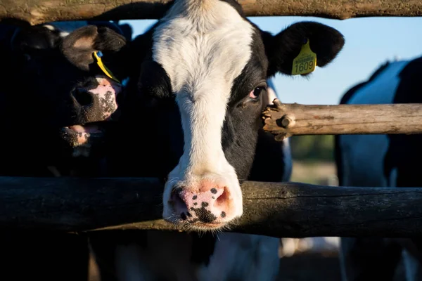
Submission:
[[[393,62],[373,81],[359,89],[348,104],[388,104],[392,103],[397,86],[398,74],[409,63]],[[342,135],[343,185],[387,186],[383,172],[384,155],[388,149],[385,135]]]

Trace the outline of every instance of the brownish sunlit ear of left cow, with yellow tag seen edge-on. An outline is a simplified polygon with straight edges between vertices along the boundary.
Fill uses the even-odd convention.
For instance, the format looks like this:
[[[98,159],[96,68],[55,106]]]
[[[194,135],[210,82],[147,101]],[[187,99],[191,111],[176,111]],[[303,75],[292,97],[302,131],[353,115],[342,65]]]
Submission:
[[[117,53],[125,45],[124,36],[114,30],[104,26],[87,25],[65,37],[61,51],[70,63],[81,70],[89,71],[95,60],[95,52],[101,51],[107,56]]]

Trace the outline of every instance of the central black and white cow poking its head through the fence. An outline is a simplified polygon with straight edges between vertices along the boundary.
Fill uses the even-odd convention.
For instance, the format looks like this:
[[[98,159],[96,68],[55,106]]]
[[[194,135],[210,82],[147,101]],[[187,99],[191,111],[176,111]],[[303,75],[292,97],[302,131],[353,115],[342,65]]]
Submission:
[[[222,230],[243,214],[242,181],[289,179],[286,147],[262,131],[261,113],[267,79],[291,74],[307,39],[320,67],[344,44],[340,32],[316,22],[274,36],[236,1],[220,0],[173,1],[134,39],[125,103],[132,108],[122,115],[127,135],[113,175],[162,178],[162,218],[200,234],[124,230],[114,233],[117,247],[108,255],[93,238],[103,276],[274,280],[278,238]]]

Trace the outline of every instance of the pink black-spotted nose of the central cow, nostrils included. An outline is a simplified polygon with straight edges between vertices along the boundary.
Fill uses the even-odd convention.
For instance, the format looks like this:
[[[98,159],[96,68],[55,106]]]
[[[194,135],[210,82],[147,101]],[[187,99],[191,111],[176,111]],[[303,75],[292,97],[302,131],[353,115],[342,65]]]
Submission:
[[[229,192],[224,186],[203,184],[197,192],[175,188],[170,197],[174,213],[189,223],[212,223],[227,215]]]

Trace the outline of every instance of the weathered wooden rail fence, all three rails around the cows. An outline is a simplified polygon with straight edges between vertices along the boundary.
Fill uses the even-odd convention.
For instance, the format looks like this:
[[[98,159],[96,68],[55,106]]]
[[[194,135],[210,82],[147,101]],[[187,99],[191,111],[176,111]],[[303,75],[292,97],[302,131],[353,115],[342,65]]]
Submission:
[[[3,0],[0,20],[158,18],[169,1]],[[422,1],[239,1],[246,15],[324,18],[422,15]],[[306,134],[422,133],[422,105],[282,105],[264,112],[276,140]],[[382,114],[379,114],[381,112]],[[154,178],[0,177],[0,228],[184,230],[161,219]],[[244,214],[231,230],[274,237],[413,237],[422,230],[422,188],[338,188],[243,183]]]

